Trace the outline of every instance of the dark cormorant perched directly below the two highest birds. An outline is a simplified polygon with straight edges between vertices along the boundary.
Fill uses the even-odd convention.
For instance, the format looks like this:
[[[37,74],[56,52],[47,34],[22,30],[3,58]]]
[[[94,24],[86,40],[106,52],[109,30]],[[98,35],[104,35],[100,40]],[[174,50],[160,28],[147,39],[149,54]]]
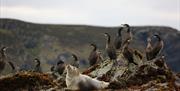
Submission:
[[[137,63],[134,62],[134,58],[133,58],[133,50],[128,48],[128,45],[130,43],[130,39],[127,39],[124,43],[123,43],[123,56],[128,60],[128,65],[130,63],[133,63],[135,65],[137,65]]]

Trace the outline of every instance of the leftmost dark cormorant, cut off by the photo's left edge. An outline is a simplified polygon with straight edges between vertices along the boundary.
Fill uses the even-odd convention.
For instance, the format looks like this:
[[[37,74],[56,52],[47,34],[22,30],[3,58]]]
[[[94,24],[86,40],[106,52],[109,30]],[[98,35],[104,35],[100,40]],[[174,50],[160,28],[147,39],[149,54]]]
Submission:
[[[0,73],[4,70],[5,68],[5,65],[6,65],[6,49],[7,47],[2,47],[1,50],[0,50]]]

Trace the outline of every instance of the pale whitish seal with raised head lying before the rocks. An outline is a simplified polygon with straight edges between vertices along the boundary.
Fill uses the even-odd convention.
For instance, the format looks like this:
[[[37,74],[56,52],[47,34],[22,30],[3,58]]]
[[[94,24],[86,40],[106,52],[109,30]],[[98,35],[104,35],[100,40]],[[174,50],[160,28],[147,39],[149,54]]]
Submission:
[[[109,86],[108,82],[99,81],[87,75],[83,75],[79,70],[71,65],[66,66],[66,86],[70,90],[95,90],[104,89]]]

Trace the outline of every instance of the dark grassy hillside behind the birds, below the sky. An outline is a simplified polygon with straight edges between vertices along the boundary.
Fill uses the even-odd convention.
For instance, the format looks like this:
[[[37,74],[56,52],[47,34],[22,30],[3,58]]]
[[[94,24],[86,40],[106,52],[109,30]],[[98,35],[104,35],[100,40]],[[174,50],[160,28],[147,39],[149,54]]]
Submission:
[[[144,52],[149,33],[162,36],[164,55],[168,65],[180,72],[180,32],[165,26],[132,26],[133,43],[131,47]],[[14,19],[0,19],[0,45],[8,46],[8,57],[18,66],[34,64],[31,60],[39,57],[43,70],[48,71],[59,58],[73,60],[70,53],[76,53],[81,60],[87,59],[90,43],[98,45],[104,51],[108,32],[116,36],[118,27],[97,27],[87,25],[35,24]],[[84,62],[82,62],[84,63]]]

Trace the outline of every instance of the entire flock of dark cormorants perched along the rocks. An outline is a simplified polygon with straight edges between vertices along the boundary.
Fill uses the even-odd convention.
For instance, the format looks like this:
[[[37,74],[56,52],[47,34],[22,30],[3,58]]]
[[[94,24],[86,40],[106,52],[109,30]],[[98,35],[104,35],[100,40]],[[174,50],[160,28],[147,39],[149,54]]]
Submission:
[[[121,34],[122,30],[125,30],[125,33],[126,33],[125,35],[126,38],[124,39],[124,41],[122,40],[123,39],[122,34]],[[113,61],[114,64],[117,63],[117,56],[118,56],[117,52],[121,51],[124,58],[128,60],[128,65],[130,63],[133,63],[134,65],[138,65],[136,62],[134,62],[133,55],[134,54],[138,55],[140,59],[143,58],[143,55],[139,51],[132,50],[131,48],[129,48],[129,44],[133,39],[133,35],[132,35],[132,30],[130,29],[130,26],[128,24],[122,24],[122,27],[118,29],[117,36],[113,42],[111,41],[111,36],[108,33],[104,33],[104,35],[106,37],[106,48],[105,48],[106,53],[108,57],[110,58],[110,60]],[[156,42],[156,45],[154,46],[152,46],[152,37],[155,37],[158,40]],[[88,60],[89,60],[90,66],[93,66],[97,64],[100,60],[102,60],[102,56],[101,56],[101,52],[98,51],[96,44],[91,44],[90,46],[92,46],[93,49],[89,55]],[[145,49],[146,59],[152,60],[156,58],[161,53],[163,46],[164,46],[164,42],[158,34],[155,34],[153,36],[148,36],[147,46]],[[6,49],[7,47],[2,47],[0,50],[0,74],[5,68],[6,62],[9,63],[9,65],[11,66],[13,70],[15,70],[14,64],[10,61],[6,61]],[[79,68],[78,57],[75,54],[72,54],[72,57],[74,58],[74,63],[71,65]],[[38,58],[35,58],[34,62],[36,63],[36,65],[33,71],[42,72],[40,60]],[[59,60],[56,63],[56,65],[50,68],[52,72],[57,72],[60,75],[63,73],[64,69],[65,69],[65,63],[62,60]]]

